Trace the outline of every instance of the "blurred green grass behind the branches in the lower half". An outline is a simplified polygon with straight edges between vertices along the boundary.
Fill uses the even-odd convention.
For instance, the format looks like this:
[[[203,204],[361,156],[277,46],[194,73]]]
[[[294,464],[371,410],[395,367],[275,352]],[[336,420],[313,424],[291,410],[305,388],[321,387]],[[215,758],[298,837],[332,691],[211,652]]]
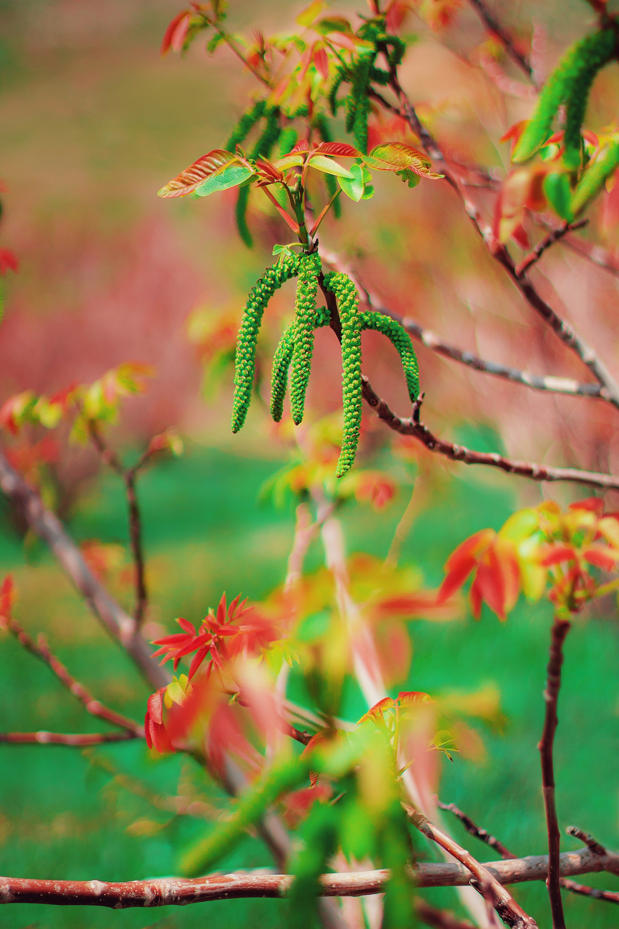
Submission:
[[[291,512],[260,503],[264,479],[280,463],[235,456],[229,451],[190,447],[187,456],[150,471],[142,481],[153,603],[161,622],[179,613],[198,620],[222,589],[251,597],[280,582],[292,538]],[[440,580],[449,551],[484,526],[498,527],[516,505],[509,482],[488,482],[479,473],[458,471],[435,502],[417,520],[403,561],[419,565],[426,580]],[[351,505],[343,512],[351,552],[384,556],[394,526],[406,505],[406,491],[386,514]],[[111,478],[102,478],[71,524],[78,539],[119,542],[126,537],[123,498]],[[102,700],[135,716],[144,712],[148,690],[123,654],[99,631],[45,551],[28,550],[6,522],[0,555],[19,583],[20,622],[43,630],[70,670]],[[30,562],[30,563],[29,563]],[[307,565],[320,562],[317,545]],[[122,591],[121,591],[122,593]],[[519,605],[509,622],[489,613],[451,623],[414,622],[415,654],[408,686],[434,694],[472,690],[494,683],[508,724],[503,734],[484,731],[487,760],[472,764],[454,756],[445,762],[441,796],[468,811],[517,854],[544,851],[545,830],[535,749],[542,713],[542,687],[548,642],[548,608]],[[571,633],[561,693],[557,739],[558,798],[561,827],[576,823],[602,842],[617,845],[616,757],[617,622],[614,616],[577,623]],[[0,642],[2,726],[96,731],[96,721],[62,691],[53,676],[9,638]],[[345,710],[350,718],[363,709],[351,690]],[[143,779],[155,792],[176,792],[179,778],[200,795],[226,803],[199,769],[184,758],[153,761],[143,745],[119,744],[95,750],[124,773]],[[135,825],[137,824],[137,825]],[[458,838],[486,860],[483,845],[452,823]],[[146,800],[114,786],[110,775],[76,749],[0,746],[0,872],[19,876],[131,880],[174,874],[177,855],[205,827],[197,819],[171,818]],[[207,827],[208,828],[208,827]],[[570,838],[564,849],[576,847]],[[232,870],[270,865],[267,851],[248,838],[222,862]],[[587,880],[589,880],[587,878]],[[591,883],[615,886],[609,876]],[[426,892],[437,902],[457,907],[453,891]],[[521,886],[516,896],[549,926],[541,883]],[[566,895],[569,924],[613,926],[610,905]],[[286,904],[251,900],[201,904],[152,912],[134,909],[60,909],[3,907],[0,926],[40,927],[179,926],[208,920],[230,929],[251,921],[256,926],[286,924]]]

